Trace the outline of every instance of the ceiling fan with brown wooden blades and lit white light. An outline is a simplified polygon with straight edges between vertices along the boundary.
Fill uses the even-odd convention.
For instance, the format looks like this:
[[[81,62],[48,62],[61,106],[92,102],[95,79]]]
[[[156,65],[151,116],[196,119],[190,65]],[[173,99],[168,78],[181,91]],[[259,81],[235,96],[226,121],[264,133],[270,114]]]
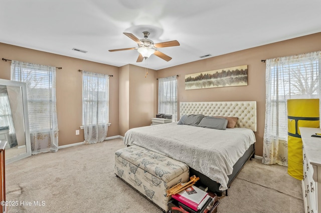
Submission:
[[[139,52],[139,55],[136,62],[141,62],[144,58],[148,58],[151,54],[154,54],[166,61],[170,61],[172,57],[168,56],[167,54],[164,54],[163,52],[158,51],[157,48],[180,45],[180,43],[177,40],[154,43],[152,40],[148,39],[149,32],[147,31],[142,32],[144,36],[144,38],[142,39],[138,39],[135,35],[129,32],[123,32],[123,33],[127,35],[129,38],[131,38],[133,41],[135,41],[138,44],[138,47],[109,49],[108,51],[113,52],[113,51],[137,49],[137,51]]]

